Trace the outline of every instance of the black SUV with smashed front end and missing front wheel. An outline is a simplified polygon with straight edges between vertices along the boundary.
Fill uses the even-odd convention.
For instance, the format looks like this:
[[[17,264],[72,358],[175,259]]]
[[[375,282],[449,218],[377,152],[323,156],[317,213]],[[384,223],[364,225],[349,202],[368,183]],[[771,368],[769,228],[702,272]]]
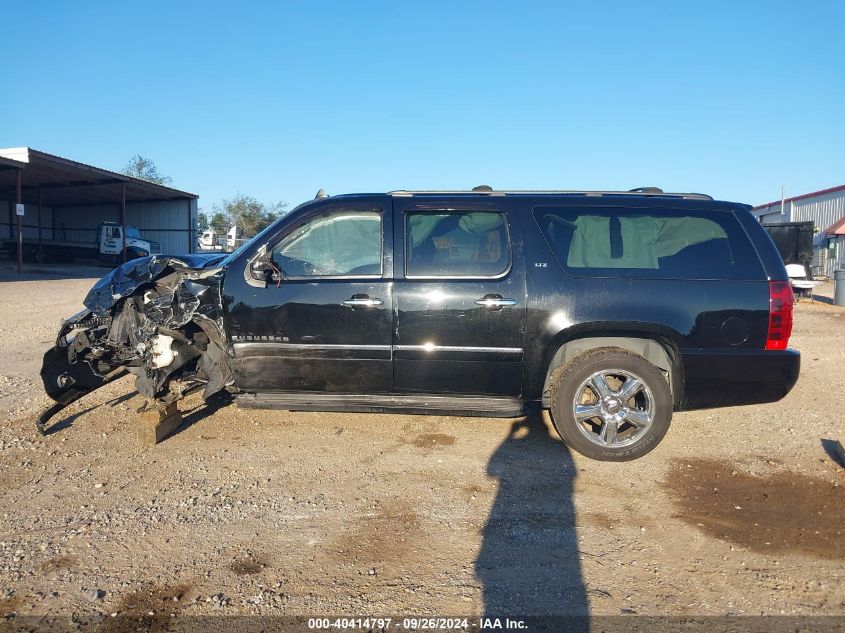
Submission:
[[[150,406],[519,416],[644,455],[673,411],[772,402],[798,378],[792,292],[745,205],[700,194],[321,197],[236,252],[115,269],[63,324],[52,413],[125,369]]]

